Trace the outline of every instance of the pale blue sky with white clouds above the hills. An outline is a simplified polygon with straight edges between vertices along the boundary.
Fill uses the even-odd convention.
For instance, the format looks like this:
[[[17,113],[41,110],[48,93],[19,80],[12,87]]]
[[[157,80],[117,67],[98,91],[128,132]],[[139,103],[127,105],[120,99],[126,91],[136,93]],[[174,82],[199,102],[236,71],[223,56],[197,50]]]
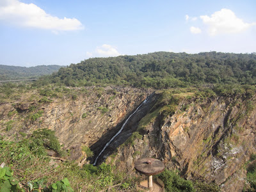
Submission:
[[[94,57],[256,52],[256,1],[0,0],[0,65]]]

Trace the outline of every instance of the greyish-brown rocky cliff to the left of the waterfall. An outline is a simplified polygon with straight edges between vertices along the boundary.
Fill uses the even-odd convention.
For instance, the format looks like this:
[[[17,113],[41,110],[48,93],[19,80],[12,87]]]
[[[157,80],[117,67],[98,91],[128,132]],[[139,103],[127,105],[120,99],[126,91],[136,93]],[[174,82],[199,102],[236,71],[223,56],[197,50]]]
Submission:
[[[70,159],[83,164],[86,156],[81,146],[90,147],[115,130],[150,93],[118,87],[88,87],[82,92],[79,88],[69,89],[71,96],[45,98],[31,91],[19,100],[1,103],[0,134],[19,140],[36,129],[52,129],[63,148],[70,150]]]

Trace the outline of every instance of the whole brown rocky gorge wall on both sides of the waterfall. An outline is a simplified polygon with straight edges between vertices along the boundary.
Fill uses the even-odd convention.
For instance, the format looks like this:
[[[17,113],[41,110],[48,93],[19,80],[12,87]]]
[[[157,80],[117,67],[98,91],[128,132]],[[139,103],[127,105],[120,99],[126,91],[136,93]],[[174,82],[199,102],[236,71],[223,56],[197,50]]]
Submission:
[[[82,147],[99,154],[149,95],[99,163],[106,159],[106,163],[134,174],[134,161],[156,157],[187,179],[215,182],[222,191],[241,191],[246,182],[244,164],[256,153],[255,93],[250,97],[196,97],[193,93],[167,97],[163,92],[118,87],[100,88],[99,94],[99,88],[90,87],[75,99],[55,98],[50,103],[38,102],[39,95],[38,100],[24,97],[0,105],[0,133],[19,140],[20,132],[52,129],[63,148],[70,151],[69,158],[84,164],[88,159]],[[29,111],[31,106],[36,106],[35,111]],[[40,110],[42,116],[29,118]],[[13,127],[6,131],[10,121]]]

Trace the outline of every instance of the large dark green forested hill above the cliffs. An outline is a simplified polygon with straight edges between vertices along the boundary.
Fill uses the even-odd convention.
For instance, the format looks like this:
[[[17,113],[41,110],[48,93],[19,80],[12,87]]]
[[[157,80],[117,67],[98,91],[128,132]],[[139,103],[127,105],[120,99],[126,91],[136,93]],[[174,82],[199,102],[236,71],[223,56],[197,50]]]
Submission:
[[[84,86],[129,84],[168,88],[189,84],[255,84],[256,54],[154,52],[136,56],[90,58],[60,68],[42,82]],[[50,82],[49,82],[50,83]]]

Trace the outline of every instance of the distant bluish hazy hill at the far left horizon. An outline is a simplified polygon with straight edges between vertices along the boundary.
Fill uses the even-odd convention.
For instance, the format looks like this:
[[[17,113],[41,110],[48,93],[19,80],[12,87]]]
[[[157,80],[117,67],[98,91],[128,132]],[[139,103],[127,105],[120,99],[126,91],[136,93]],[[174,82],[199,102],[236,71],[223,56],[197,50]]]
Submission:
[[[0,80],[11,79],[29,79],[57,72],[61,67],[59,65],[39,65],[36,67],[18,67],[9,65],[0,65]]]

